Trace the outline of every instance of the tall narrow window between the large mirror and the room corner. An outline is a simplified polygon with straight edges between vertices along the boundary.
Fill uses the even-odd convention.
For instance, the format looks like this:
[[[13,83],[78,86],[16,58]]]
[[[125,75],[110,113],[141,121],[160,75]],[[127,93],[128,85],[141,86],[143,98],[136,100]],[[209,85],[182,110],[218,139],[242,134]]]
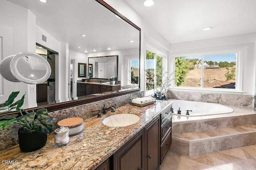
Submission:
[[[150,71],[154,76],[154,82],[156,82],[156,87],[160,87],[162,78],[162,68],[163,68],[163,57],[159,54],[152,53],[146,50],[146,70]],[[149,78],[146,77],[146,91],[153,90],[154,84],[150,82]]]

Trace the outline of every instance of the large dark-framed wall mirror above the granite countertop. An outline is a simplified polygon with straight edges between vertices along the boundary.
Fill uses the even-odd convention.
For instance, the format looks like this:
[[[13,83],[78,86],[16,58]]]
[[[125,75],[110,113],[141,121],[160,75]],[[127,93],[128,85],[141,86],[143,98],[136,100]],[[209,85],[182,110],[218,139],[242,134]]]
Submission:
[[[47,3],[38,0],[2,0],[0,15],[4,16],[0,18],[0,30],[6,26],[10,28],[6,29],[6,34],[0,31],[0,38],[13,39],[13,42],[2,41],[0,44],[3,47],[0,51],[4,51],[1,59],[7,57],[5,54],[34,52],[37,45],[38,49],[43,47],[45,51],[36,53],[44,56],[51,65],[50,78],[41,84],[47,93],[44,93],[46,101],[36,103],[36,106],[30,105],[30,102],[36,101],[38,94],[28,92],[32,87],[22,84],[24,87],[20,90],[26,92],[27,103],[24,109],[46,107],[53,111],[139,91],[139,82],[133,82],[132,76],[136,69],[135,76],[139,77],[140,28],[103,0],[54,0]],[[6,47],[10,47],[8,53],[5,53]],[[100,61],[93,61],[100,57],[104,59],[103,56],[116,57],[113,62],[115,70],[110,74],[118,76],[121,90],[77,97],[77,82],[84,79],[78,75],[78,63],[86,64],[85,77],[107,79],[110,74],[97,76],[96,68]],[[16,83],[12,84],[14,90],[6,90],[8,84],[2,84],[6,95],[19,90]]]

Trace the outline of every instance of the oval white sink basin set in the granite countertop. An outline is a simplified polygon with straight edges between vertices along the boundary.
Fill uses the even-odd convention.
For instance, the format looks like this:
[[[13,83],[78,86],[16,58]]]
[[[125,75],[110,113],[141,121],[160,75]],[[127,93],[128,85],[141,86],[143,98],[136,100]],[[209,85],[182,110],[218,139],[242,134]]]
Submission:
[[[131,113],[120,113],[107,117],[102,121],[104,125],[111,127],[124,127],[132,125],[140,120],[138,115]]]

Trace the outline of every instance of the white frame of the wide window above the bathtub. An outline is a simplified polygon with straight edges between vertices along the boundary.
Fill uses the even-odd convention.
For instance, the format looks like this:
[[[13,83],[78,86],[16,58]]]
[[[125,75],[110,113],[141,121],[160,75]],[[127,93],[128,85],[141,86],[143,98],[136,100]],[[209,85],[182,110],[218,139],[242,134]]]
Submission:
[[[218,54],[228,54],[228,53],[236,53],[236,88],[206,88],[203,87],[204,84],[204,67],[201,68],[201,86],[200,87],[182,87],[182,86],[175,86],[175,80],[173,81],[172,88],[176,90],[200,90],[200,91],[210,91],[210,92],[231,92],[231,93],[242,93],[242,61],[241,61],[241,54],[242,49],[228,49],[228,50],[214,50],[214,51],[201,51],[197,53],[185,53],[185,54],[178,54],[173,55],[173,69],[175,71],[175,59],[176,57],[192,57],[192,56],[201,56],[201,62],[204,63],[204,56],[205,55],[218,55]],[[175,73],[174,73],[175,76]]]

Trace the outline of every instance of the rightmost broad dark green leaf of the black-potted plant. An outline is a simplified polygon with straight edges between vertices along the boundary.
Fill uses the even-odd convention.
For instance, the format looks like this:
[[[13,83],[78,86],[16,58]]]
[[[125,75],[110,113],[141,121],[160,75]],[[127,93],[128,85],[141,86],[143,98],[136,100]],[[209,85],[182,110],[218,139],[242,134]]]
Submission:
[[[40,123],[35,123],[34,129],[41,133],[52,133],[52,117],[49,116],[46,119],[42,119]]]

